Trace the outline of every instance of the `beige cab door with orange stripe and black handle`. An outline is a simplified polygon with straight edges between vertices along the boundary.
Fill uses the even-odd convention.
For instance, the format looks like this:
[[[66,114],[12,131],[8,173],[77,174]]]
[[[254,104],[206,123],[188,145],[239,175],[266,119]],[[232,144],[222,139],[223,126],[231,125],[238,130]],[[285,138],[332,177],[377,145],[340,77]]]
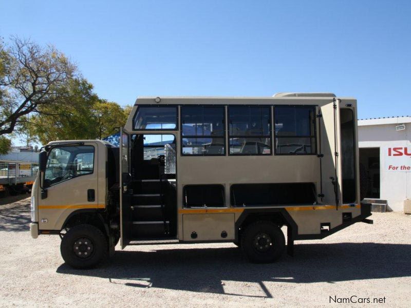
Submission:
[[[52,145],[38,188],[39,229],[60,230],[73,211],[104,208],[98,180],[97,143]]]

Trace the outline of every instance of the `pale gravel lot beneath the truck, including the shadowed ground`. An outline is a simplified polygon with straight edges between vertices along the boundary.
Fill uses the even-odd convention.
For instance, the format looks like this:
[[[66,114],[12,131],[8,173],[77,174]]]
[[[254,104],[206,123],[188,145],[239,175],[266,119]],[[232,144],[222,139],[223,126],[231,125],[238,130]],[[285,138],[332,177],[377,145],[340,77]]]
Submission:
[[[295,257],[274,264],[247,263],[233,244],[153,245],[127,247],[100,268],[79,271],[63,263],[58,236],[31,239],[29,199],[11,202],[0,205],[0,306],[411,301],[411,216],[401,213],[375,214],[374,225],[358,223],[321,241],[297,241]],[[372,303],[349,304],[363,305]]]

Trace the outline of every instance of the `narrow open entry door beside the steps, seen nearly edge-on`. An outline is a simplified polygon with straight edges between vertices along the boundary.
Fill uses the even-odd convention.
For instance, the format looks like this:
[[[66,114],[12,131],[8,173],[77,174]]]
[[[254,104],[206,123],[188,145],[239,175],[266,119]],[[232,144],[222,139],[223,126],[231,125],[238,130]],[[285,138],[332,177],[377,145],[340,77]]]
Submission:
[[[130,134],[120,131],[120,240],[123,249],[130,242],[132,190],[130,174]]]

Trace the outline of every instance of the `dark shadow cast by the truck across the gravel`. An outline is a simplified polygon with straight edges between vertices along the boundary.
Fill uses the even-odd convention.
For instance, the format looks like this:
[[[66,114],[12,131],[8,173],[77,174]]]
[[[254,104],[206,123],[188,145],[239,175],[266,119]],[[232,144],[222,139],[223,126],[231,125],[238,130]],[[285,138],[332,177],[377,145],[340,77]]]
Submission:
[[[106,278],[135,287],[269,298],[275,290],[266,282],[334,283],[411,276],[411,245],[407,244],[297,244],[295,257],[284,256],[272,264],[248,263],[236,247],[166,247],[150,252],[118,251],[110,262],[90,270],[62,264],[57,273]],[[237,294],[239,283],[259,290]]]

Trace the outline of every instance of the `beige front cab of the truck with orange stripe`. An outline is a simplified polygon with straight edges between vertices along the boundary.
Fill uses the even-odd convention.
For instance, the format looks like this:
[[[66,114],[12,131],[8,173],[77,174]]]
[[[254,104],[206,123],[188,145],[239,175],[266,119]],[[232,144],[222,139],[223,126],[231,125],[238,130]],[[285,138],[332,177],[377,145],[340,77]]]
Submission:
[[[101,140],[50,142],[40,153],[39,163],[31,192],[32,237],[59,234],[64,238],[70,228],[80,233],[85,229],[78,237],[83,240],[70,244],[83,262],[95,262],[89,257],[106,255],[110,245],[113,250],[120,237],[118,148]],[[90,232],[100,245],[87,238]],[[70,249],[63,248],[63,257],[70,258]]]

